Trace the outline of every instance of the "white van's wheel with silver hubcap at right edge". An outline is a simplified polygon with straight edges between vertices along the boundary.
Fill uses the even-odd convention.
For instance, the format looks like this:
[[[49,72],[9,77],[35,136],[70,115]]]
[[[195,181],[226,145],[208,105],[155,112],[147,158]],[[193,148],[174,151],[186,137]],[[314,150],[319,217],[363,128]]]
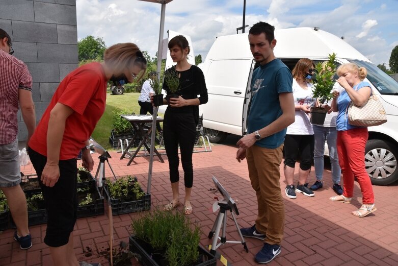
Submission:
[[[388,185],[398,180],[398,149],[391,142],[369,139],[365,147],[365,168],[373,185]]]

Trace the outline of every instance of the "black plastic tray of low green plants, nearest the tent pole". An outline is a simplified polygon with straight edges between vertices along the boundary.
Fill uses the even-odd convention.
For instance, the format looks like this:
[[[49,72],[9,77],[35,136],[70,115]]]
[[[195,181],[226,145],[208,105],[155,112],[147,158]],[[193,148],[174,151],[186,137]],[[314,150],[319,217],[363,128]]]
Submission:
[[[137,178],[134,180],[137,182]],[[107,181],[103,182],[103,191],[105,191],[105,200],[111,203],[113,215],[144,211],[151,208],[151,195],[148,193],[145,193],[141,199],[135,201],[122,201],[121,199],[113,199],[109,196],[110,193],[108,191]]]

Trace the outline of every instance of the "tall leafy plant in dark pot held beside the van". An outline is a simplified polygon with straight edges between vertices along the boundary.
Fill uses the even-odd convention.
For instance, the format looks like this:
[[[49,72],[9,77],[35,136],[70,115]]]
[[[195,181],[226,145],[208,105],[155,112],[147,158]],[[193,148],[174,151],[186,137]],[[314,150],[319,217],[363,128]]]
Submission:
[[[333,98],[332,89],[334,85],[333,77],[336,73],[335,64],[336,54],[329,54],[329,60],[319,62],[315,65],[314,88],[312,89],[313,97],[317,99],[315,106],[311,109],[311,123],[314,125],[323,125],[325,117],[329,109],[325,108],[326,104]]]

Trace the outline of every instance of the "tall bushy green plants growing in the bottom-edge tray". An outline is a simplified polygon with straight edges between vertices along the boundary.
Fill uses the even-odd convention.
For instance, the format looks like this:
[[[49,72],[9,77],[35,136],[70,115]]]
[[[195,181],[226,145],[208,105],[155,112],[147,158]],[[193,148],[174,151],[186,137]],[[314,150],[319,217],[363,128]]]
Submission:
[[[131,223],[139,239],[155,250],[165,250],[170,266],[185,266],[197,261],[201,230],[198,225],[178,211],[155,209]]]

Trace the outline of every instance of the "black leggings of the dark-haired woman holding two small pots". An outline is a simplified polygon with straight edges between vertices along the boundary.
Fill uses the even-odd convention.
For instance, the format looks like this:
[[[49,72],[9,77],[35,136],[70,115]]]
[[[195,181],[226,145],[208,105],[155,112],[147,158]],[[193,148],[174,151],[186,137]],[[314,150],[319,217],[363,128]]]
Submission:
[[[165,113],[163,120],[163,139],[169,160],[170,182],[179,181],[178,144],[181,152],[181,163],[184,170],[184,185],[192,187],[194,170],[192,153],[195,145],[196,125],[193,113]]]

